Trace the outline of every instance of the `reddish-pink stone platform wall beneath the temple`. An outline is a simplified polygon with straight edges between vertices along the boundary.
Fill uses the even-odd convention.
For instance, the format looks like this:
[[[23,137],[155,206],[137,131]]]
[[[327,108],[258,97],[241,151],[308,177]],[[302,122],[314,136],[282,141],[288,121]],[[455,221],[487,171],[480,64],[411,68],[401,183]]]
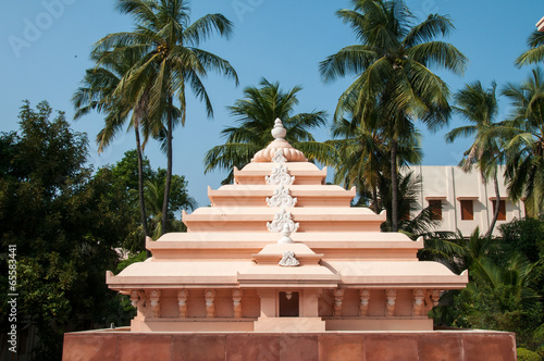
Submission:
[[[511,333],[128,333],[64,335],[64,361],[514,361]]]

